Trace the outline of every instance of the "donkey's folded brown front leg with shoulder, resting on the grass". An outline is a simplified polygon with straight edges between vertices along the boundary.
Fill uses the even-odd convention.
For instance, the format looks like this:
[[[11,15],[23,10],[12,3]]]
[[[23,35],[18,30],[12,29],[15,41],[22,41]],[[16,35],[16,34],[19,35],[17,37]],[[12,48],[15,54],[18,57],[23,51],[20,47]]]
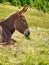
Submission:
[[[11,45],[15,41],[11,39],[12,33],[5,27],[2,27],[2,45]]]

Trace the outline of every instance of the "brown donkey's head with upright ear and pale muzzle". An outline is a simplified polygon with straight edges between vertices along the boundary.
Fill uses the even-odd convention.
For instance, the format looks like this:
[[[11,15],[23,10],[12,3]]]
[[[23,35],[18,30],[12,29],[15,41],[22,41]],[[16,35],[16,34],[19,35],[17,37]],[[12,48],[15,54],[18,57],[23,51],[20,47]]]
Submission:
[[[24,8],[17,13],[16,20],[14,22],[15,29],[18,30],[20,33],[24,34],[26,37],[28,37],[30,34],[26,18],[23,15],[27,11],[27,9],[28,6],[25,5]]]

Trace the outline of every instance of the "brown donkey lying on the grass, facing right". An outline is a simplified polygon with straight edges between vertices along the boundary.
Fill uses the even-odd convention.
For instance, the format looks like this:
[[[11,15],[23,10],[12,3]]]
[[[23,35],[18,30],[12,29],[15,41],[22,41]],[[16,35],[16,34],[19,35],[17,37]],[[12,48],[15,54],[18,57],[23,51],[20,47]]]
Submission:
[[[14,43],[15,40],[11,39],[12,34],[15,30],[24,34],[26,37],[29,36],[30,30],[23,15],[28,9],[28,5],[25,5],[22,10],[15,12],[0,22],[0,36],[2,37],[1,42]]]

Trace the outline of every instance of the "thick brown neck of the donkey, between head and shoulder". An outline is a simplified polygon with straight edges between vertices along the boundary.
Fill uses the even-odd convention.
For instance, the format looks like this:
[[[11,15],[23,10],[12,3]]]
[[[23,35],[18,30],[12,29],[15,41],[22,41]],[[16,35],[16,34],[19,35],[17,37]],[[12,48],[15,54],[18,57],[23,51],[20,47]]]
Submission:
[[[1,23],[4,25],[11,33],[15,31],[14,21],[16,19],[16,12],[5,18]]]

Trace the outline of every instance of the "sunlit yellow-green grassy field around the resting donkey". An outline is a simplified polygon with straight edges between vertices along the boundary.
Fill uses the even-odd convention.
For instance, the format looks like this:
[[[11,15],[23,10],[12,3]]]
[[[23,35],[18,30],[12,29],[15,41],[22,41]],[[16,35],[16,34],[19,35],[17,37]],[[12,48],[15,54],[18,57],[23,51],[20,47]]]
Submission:
[[[17,10],[18,7],[0,4],[0,20]],[[25,16],[30,37],[26,39],[15,31],[15,45],[0,46],[0,65],[49,65],[49,14],[29,8]]]

